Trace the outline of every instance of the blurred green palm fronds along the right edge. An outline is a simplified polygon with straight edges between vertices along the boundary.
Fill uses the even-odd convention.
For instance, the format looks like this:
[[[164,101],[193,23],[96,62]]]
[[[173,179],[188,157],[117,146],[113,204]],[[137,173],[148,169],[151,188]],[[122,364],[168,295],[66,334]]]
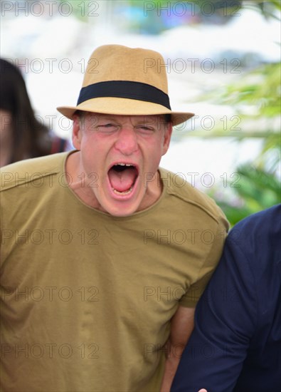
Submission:
[[[276,17],[276,11],[281,10],[279,0],[270,2],[270,11],[265,6],[268,1],[253,0],[244,3],[245,6],[255,6],[266,18]],[[272,5],[275,6],[275,11],[272,11]],[[216,99],[217,102],[232,105],[241,120],[253,122],[253,126],[246,132],[241,130],[227,135],[222,129],[214,129],[205,137],[263,139],[260,156],[254,162],[240,165],[235,170],[240,180],[239,185],[233,187],[234,195],[224,197],[218,190],[211,192],[211,196],[222,207],[231,225],[254,212],[281,202],[280,78],[281,64],[265,63],[249,71],[239,81],[226,86],[225,91]],[[213,97],[217,97],[217,94],[218,92],[214,91]],[[258,129],[255,129],[255,125]]]

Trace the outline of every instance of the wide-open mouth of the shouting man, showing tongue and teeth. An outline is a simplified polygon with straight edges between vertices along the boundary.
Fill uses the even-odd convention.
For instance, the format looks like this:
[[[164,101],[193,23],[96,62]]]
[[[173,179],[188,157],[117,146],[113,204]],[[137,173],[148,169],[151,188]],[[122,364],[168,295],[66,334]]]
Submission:
[[[108,170],[108,178],[112,191],[116,195],[129,195],[139,176],[137,167],[131,163],[117,163]]]

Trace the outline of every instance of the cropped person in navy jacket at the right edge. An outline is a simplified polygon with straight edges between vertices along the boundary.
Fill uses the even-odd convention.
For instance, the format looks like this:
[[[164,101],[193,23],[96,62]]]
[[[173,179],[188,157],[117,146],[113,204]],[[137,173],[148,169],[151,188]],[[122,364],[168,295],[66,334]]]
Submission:
[[[171,391],[280,391],[280,225],[276,205],[230,231]]]

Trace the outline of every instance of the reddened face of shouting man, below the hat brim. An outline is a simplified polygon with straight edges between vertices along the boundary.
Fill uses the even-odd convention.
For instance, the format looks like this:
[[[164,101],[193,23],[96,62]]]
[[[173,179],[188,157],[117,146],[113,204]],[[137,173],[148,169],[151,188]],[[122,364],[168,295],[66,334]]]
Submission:
[[[80,150],[88,197],[114,216],[154,204],[161,195],[157,169],[170,139],[171,124],[161,115],[75,116],[73,145]]]

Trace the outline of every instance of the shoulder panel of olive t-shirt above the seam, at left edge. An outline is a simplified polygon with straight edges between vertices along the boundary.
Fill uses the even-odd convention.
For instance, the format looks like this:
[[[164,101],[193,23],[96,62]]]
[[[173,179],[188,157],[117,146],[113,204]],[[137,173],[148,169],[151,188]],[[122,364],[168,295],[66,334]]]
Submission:
[[[1,192],[63,172],[68,153],[21,160],[1,168]]]

